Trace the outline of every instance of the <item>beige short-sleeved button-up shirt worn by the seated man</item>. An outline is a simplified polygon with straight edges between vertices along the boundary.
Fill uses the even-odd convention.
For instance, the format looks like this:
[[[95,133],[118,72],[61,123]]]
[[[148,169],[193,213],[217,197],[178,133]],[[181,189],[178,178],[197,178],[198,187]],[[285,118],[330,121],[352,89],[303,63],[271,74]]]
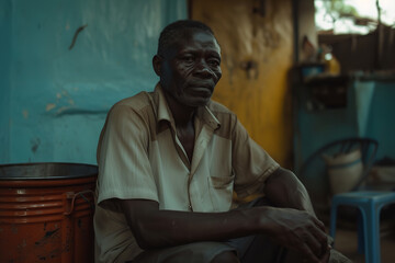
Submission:
[[[142,251],[114,198],[156,201],[169,210],[226,211],[233,191],[256,194],[279,168],[216,102],[198,110],[194,127],[190,162],[159,84],[111,108],[98,146],[95,262],[124,262]]]

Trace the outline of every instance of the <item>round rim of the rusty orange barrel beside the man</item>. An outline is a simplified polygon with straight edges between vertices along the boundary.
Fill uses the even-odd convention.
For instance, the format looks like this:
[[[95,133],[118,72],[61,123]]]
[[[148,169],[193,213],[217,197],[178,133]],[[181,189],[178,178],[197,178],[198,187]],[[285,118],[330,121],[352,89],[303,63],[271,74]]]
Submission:
[[[81,178],[90,178],[90,176],[97,176],[98,172],[99,172],[99,167],[97,164],[91,164],[91,163],[82,163],[82,162],[22,162],[22,163],[5,163],[5,164],[1,164],[0,163],[0,170],[2,168],[11,168],[11,167],[32,167],[32,165],[43,165],[43,164],[54,164],[54,165],[76,165],[76,167],[90,167],[90,168],[95,168],[97,171],[95,172],[88,172],[86,174],[68,174],[68,175],[59,175],[59,176],[55,176],[55,175],[49,175],[49,176],[31,176],[31,178],[26,178],[26,176],[0,176],[0,181],[47,181],[47,180],[72,180],[72,179],[81,179]]]

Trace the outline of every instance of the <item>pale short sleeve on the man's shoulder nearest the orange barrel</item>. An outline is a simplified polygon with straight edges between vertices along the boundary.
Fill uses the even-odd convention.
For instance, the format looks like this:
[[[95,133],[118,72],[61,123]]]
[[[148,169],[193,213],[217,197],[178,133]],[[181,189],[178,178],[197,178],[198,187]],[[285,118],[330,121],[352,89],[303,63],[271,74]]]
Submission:
[[[158,201],[148,159],[149,125],[128,105],[109,113],[98,146],[98,204],[111,198]]]

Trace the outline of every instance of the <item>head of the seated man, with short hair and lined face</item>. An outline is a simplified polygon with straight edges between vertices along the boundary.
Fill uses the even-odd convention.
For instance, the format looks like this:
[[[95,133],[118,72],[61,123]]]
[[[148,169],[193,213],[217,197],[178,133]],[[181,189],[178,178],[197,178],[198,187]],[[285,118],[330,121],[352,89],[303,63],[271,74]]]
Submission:
[[[221,48],[205,24],[183,20],[165,27],[153,59],[165,92],[177,103],[205,105],[221,79]]]

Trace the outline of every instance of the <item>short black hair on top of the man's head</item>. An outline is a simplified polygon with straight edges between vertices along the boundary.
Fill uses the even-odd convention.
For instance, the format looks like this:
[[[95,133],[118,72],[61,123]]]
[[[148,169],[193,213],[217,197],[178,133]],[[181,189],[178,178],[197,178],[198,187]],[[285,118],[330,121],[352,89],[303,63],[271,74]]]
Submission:
[[[203,31],[214,36],[213,30],[200,21],[179,20],[168,24],[160,33],[157,54],[162,55],[163,52],[174,42],[174,39],[182,37],[187,30]]]

